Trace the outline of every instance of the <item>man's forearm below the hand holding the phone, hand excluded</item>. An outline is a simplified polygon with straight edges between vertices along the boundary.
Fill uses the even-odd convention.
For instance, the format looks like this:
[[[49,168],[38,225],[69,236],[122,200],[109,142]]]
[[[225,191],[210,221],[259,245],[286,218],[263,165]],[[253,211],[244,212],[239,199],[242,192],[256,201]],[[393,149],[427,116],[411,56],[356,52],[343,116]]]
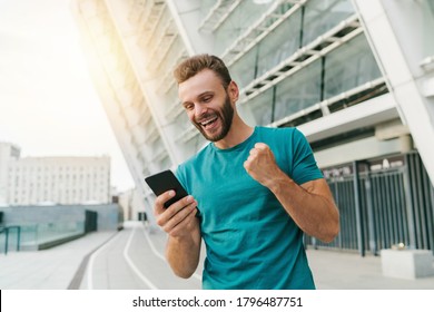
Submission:
[[[166,257],[176,275],[188,279],[195,273],[200,256],[200,230],[198,224],[185,236],[170,236]]]

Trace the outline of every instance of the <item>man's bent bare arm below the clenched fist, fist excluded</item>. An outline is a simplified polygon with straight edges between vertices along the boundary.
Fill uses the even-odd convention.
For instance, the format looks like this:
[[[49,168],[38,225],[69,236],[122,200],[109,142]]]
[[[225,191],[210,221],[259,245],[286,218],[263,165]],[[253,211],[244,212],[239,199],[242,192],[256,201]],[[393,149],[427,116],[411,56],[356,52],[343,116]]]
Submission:
[[[339,215],[324,179],[299,186],[280,173],[267,187],[306,234],[323,242],[331,242],[337,235]]]

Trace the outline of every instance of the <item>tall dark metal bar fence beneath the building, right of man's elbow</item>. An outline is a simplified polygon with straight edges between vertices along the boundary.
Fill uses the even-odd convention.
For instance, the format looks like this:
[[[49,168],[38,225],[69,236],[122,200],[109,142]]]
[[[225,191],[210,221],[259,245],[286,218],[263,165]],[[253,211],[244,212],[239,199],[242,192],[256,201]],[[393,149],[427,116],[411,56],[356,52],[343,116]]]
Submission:
[[[377,255],[403,243],[434,253],[434,187],[417,155],[388,156],[324,169],[341,214],[341,233],[314,247]]]

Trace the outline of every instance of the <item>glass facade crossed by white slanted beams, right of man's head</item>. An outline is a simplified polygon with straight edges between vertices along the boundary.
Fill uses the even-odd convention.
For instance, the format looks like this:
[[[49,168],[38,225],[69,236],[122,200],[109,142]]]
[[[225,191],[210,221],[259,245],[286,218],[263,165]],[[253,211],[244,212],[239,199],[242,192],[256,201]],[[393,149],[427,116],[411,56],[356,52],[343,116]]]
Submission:
[[[357,19],[349,1],[313,0],[276,10],[285,18],[230,65],[257,124],[306,117],[305,109],[382,77],[359,26],[352,26]],[[347,19],[352,27],[342,26]],[[323,116],[312,109],[292,125]]]

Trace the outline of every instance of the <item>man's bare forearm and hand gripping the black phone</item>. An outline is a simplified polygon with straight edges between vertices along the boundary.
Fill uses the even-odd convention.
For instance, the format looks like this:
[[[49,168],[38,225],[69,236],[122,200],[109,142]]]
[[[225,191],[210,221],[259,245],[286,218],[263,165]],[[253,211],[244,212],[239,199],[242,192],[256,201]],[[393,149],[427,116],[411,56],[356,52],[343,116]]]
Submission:
[[[200,255],[200,226],[196,217],[197,203],[193,196],[184,197],[167,209],[164,207],[174,191],[166,192],[155,201],[157,224],[168,234],[166,257],[174,273],[188,279],[195,273]]]

